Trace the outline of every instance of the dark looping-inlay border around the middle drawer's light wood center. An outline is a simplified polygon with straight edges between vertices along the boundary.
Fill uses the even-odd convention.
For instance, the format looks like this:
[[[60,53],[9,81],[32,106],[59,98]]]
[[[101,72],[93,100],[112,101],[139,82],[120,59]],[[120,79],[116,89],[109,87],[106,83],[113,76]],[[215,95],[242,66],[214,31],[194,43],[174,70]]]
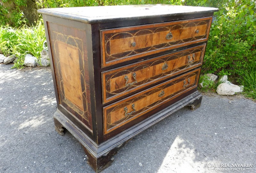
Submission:
[[[196,47],[191,47],[191,48],[184,49],[184,50],[181,50],[181,51],[177,51],[177,52],[174,52],[174,53],[171,53],[171,54],[161,55],[161,56],[158,56],[154,59],[140,61],[140,62],[134,63],[132,65],[129,65],[129,66],[125,66],[125,67],[121,67],[121,68],[115,68],[113,70],[108,70],[108,71],[101,72],[103,104],[108,103],[109,101],[112,101],[112,100],[114,100],[118,97],[122,97],[122,96],[128,94],[129,92],[139,90],[143,87],[147,87],[148,85],[150,85],[152,83],[159,82],[160,80],[167,79],[169,77],[175,76],[179,73],[185,72],[185,71],[190,70],[192,68],[196,68],[196,67],[201,66],[202,62],[203,62],[203,58],[204,58],[205,45],[206,44],[196,46]],[[179,56],[193,54],[197,51],[200,52],[200,57],[199,57],[198,61],[187,63],[185,66],[175,68],[175,69],[172,69],[172,70],[169,70],[169,71],[163,71],[162,74],[159,74],[157,76],[152,76],[151,77],[152,79],[149,78],[147,81],[134,83],[133,85],[131,85],[129,87],[126,87],[123,92],[110,93],[110,91],[108,91],[108,85],[110,84],[110,79],[112,79],[113,77],[118,76],[119,74],[122,74],[122,76],[128,75],[128,74],[131,74],[132,72],[136,71],[136,69],[138,69],[140,67],[144,67],[146,64],[147,64],[146,66],[148,67],[148,64],[153,64],[154,65],[155,62],[159,63],[159,61],[161,61],[163,63],[163,62],[172,60],[173,57],[174,58],[179,58]]]

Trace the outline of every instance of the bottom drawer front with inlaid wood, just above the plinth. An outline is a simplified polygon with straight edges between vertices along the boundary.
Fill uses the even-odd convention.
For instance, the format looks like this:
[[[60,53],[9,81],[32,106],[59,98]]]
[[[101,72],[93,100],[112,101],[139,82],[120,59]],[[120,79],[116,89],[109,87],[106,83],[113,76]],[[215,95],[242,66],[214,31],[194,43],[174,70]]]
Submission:
[[[103,107],[104,134],[197,86],[200,68]]]

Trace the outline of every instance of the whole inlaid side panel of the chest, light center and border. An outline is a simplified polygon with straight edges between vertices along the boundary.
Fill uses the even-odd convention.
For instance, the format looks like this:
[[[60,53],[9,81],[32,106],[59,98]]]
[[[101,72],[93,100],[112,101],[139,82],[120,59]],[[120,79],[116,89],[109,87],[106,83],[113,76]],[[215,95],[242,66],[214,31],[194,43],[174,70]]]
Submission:
[[[47,23],[60,105],[92,132],[85,31]]]

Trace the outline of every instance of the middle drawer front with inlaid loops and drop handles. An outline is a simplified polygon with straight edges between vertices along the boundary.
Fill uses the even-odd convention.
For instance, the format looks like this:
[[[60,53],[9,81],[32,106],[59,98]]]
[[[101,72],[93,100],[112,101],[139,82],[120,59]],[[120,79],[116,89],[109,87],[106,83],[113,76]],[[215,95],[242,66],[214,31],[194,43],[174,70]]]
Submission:
[[[103,104],[202,65],[205,44],[102,72]]]

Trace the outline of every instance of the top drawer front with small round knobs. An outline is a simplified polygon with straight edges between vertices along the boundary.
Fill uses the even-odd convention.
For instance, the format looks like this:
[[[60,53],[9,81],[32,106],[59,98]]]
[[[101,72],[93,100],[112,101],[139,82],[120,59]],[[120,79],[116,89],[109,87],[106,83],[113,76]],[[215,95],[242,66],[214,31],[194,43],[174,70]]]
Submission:
[[[212,17],[101,30],[102,67],[208,39]]]

